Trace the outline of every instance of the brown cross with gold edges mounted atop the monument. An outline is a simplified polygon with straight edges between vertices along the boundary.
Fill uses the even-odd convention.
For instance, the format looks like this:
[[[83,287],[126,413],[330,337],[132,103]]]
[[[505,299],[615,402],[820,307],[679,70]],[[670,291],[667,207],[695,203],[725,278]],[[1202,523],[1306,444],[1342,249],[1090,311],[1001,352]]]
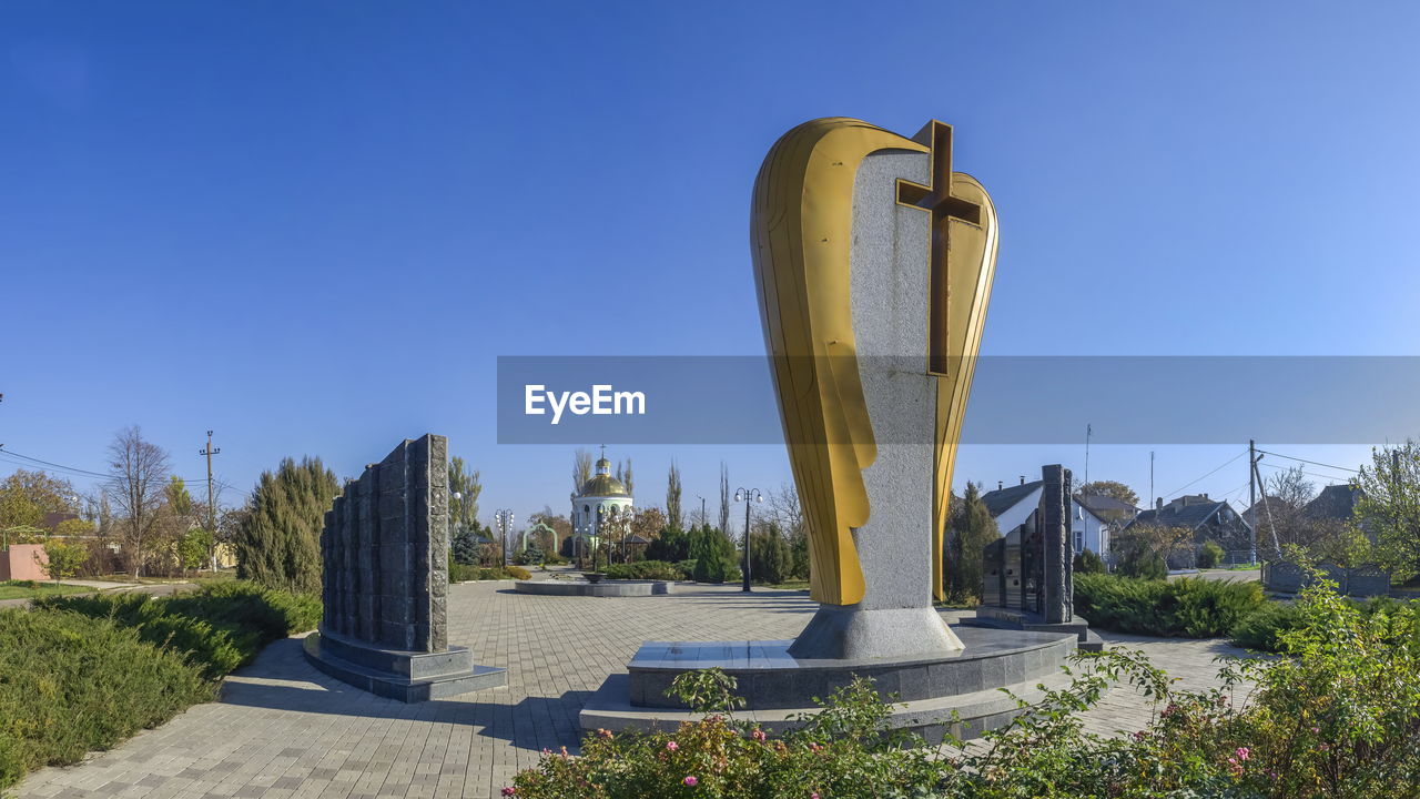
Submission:
[[[951,296],[951,276],[947,274],[947,252],[951,249],[951,219],[981,225],[981,206],[951,196],[951,125],[936,119],[927,122],[914,139],[932,148],[932,185],[897,181],[897,202],[932,212],[932,310],[927,328],[927,371],[949,374],[947,299]]]

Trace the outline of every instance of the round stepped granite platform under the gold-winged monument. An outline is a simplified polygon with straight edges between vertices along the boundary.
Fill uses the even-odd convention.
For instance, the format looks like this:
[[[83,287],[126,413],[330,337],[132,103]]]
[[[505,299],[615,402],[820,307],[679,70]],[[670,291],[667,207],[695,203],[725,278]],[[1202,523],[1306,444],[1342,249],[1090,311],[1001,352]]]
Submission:
[[[1037,687],[1059,688],[1061,671],[1076,651],[1076,636],[958,627],[963,650],[903,658],[797,658],[794,641],[649,641],[613,674],[581,712],[582,729],[674,729],[697,719],[684,704],[667,697],[672,681],[686,672],[721,668],[736,678],[746,699],[743,718],[771,731],[802,724],[795,717],[818,709],[815,697],[828,697],[856,677],[873,680],[882,694],[896,694],[888,724],[910,729],[932,742],[944,734],[976,738],[1025,712],[1007,688],[1028,704],[1041,699]]]

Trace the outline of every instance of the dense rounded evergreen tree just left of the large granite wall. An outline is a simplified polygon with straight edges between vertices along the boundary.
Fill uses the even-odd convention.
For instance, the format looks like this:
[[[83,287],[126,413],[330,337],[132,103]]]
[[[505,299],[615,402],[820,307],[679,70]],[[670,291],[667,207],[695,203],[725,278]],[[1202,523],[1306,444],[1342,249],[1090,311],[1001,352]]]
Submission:
[[[321,590],[321,526],[341,486],[320,458],[281,461],[261,472],[251,513],[236,536],[237,576],[267,587],[315,594]]]

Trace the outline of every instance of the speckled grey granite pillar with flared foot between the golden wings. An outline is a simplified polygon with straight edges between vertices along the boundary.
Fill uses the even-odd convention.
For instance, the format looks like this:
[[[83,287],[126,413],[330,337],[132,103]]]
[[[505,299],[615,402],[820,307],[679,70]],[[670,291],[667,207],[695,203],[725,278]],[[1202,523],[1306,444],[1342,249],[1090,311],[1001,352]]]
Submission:
[[[858,364],[878,458],[863,471],[870,516],[852,530],[862,601],[822,604],[797,658],[927,655],[961,650],[932,606],[937,378],[927,374],[930,215],[897,205],[899,178],[927,183],[930,156],[886,151],[853,185],[849,291]]]

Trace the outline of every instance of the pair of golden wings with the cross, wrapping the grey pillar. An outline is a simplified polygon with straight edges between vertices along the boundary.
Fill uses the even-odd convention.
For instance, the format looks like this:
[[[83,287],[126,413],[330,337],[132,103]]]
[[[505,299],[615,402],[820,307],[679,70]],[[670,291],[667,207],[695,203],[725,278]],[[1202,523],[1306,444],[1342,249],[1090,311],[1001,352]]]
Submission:
[[[995,270],[995,208],[974,178],[951,171],[950,125],[932,121],[907,139],[859,119],[814,119],[775,142],[760,168],[750,243],[764,338],[809,532],[811,594],[829,604],[863,597],[851,529],[872,510],[863,469],[878,446],[858,371],[849,249],[858,166],[883,149],[932,156],[932,185],[899,181],[897,202],[932,213],[923,368],[939,385],[933,529],[923,554],[937,599],[951,468]]]

